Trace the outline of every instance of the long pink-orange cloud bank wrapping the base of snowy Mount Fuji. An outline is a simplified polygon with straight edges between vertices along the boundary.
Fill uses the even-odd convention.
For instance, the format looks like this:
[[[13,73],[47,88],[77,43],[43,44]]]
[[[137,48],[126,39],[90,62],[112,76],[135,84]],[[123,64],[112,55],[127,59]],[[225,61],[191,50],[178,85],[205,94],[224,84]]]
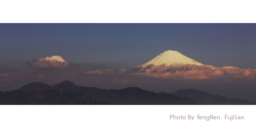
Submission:
[[[174,78],[174,79],[250,79],[256,80],[256,70],[241,69],[232,66],[196,66],[196,65],[171,65],[167,67],[157,66],[133,72],[133,75]]]

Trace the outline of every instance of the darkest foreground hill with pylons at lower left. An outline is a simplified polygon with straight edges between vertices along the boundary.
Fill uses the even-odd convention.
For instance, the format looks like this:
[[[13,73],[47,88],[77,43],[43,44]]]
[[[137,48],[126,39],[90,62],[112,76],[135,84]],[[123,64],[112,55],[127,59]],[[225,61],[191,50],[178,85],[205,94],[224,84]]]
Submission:
[[[84,94],[73,92],[39,91],[27,94],[9,91],[0,94],[1,105],[113,105],[106,101],[93,100]]]

